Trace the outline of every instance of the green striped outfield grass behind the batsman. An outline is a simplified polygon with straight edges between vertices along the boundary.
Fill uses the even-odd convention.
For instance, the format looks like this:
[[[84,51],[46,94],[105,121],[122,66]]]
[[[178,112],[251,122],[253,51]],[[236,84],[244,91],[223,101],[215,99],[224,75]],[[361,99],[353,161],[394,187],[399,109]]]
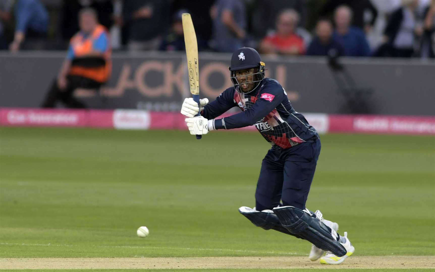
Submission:
[[[435,255],[435,138],[321,141],[307,207],[355,255]],[[269,147],[258,133],[0,128],[0,258],[308,255],[238,213]]]

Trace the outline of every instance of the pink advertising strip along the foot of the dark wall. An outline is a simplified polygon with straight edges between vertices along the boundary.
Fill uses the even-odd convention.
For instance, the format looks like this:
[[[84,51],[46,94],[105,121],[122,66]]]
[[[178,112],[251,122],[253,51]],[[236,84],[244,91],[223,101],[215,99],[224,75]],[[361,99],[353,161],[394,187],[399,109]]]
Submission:
[[[114,128],[113,116],[114,110],[0,108],[0,126]],[[229,114],[220,117],[226,116]],[[327,133],[435,135],[435,116],[326,116]],[[186,129],[184,119],[181,113],[151,112],[149,129]],[[256,131],[255,126],[237,130]]]

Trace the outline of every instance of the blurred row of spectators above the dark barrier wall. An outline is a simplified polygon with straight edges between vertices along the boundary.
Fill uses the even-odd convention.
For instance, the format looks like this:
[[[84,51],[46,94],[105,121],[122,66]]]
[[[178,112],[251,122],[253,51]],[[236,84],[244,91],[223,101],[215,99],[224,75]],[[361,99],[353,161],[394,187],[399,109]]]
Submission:
[[[66,50],[91,7],[114,50],[435,57],[435,0],[0,0],[0,50]]]

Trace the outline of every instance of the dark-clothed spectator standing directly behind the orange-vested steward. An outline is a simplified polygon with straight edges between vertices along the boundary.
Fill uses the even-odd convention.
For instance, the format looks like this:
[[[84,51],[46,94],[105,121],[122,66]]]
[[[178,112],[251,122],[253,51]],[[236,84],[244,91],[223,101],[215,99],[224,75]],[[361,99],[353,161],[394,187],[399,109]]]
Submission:
[[[114,6],[111,0],[63,0],[60,34],[65,42],[69,42],[79,31],[78,14],[80,10],[87,7],[97,11],[98,22],[101,25],[107,29],[112,26]]]

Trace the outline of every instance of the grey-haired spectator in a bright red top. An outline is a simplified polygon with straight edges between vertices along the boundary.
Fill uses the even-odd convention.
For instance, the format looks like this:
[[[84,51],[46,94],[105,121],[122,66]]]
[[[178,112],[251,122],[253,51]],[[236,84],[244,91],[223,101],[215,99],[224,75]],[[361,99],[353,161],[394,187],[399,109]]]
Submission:
[[[276,22],[276,33],[265,37],[260,43],[261,53],[302,55],[305,53],[304,40],[295,34],[299,15],[295,10],[283,10]]]

